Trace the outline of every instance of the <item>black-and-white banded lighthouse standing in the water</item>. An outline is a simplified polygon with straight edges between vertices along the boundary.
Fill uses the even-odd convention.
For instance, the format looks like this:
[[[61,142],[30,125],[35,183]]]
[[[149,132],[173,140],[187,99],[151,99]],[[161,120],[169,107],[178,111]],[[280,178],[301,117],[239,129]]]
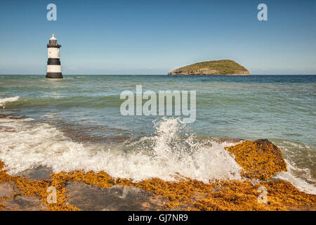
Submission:
[[[60,67],[60,56],[59,49],[60,44],[57,44],[57,39],[55,39],[55,34],[52,34],[51,39],[49,39],[49,44],[47,45],[47,73],[46,78],[62,78],[62,72]]]

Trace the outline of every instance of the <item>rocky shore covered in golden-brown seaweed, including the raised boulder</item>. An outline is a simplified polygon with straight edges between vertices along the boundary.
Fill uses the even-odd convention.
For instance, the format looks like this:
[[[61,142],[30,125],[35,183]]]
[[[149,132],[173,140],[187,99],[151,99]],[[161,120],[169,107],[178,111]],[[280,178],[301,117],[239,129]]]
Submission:
[[[258,140],[228,147],[238,156],[252,149],[254,154],[244,162],[260,162],[258,156],[262,155],[256,155],[256,151],[274,156],[263,165],[251,167],[243,165],[239,158],[246,172],[243,181],[217,180],[209,184],[179,177],[176,181],[152,178],[133,182],[105,172],[51,173],[45,167],[11,176],[3,170],[4,162],[0,160],[0,210],[316,210],[316,195],[271,178],[284,170],[284,159],[277,149],[268,151],[271,144]],[[271,170],[271,165],[281,166]],[[39,170],[46,173],[42,179],[37,179]],[[49,186],[57,190],[57,203],[47,203]],[[267,203],[258,203],[260,187],[268,191]]]

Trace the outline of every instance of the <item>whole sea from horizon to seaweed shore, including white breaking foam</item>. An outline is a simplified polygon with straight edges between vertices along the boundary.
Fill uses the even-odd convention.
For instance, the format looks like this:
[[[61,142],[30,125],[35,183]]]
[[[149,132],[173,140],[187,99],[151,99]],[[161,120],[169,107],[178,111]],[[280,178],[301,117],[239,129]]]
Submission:
[[[122,115],[121,94],[139,85],[157,96],[195,91],[195,121]],[[0,160],[12,175],[47,167],[133,181],[242,180],[225,147],[268,139],[287,162],[274,178],[316,194],[316,75],[0,75],[0,114]]]

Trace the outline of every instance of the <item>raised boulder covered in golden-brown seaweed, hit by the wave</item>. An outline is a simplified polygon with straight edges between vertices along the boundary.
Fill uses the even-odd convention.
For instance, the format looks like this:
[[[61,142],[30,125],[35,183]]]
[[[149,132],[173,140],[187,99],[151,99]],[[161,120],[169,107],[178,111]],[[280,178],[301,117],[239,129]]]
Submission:
[[[277,172],[287,171],[281,150],[267,139],[245,141],[226,150],[235,155],[236,162],[244,169],[242,175],[247,178],[268,180]]]

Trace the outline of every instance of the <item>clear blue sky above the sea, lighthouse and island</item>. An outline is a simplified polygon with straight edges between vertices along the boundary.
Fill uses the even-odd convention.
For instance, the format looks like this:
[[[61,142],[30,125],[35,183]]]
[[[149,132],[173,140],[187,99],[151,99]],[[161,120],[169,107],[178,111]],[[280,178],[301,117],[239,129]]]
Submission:
[[[57,6],[57,21],[46,6]],[[257,6],[268,6],[268,21]],[[316,6],[305,1],[0,1],[0,74],[159,75],[230,58],[252,74],[316,74]]]

